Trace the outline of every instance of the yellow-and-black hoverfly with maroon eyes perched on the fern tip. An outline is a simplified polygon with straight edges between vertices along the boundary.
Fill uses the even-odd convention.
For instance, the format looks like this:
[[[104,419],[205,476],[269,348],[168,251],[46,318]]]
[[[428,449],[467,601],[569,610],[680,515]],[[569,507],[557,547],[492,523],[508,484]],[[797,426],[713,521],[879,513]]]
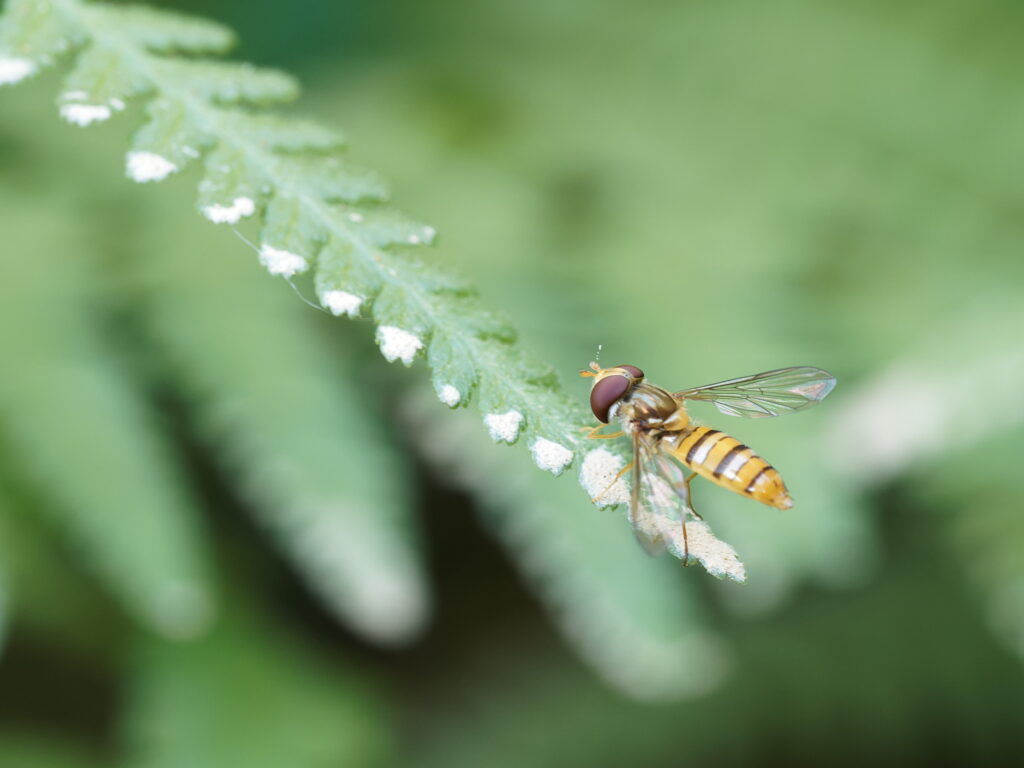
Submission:
[[[702,519],[690,502],[690,482],[697,475],[770,507],[793,506],[790,492],[774,467],[735,437],[693,424],[686,413],[686,401],[712,402],[723,414],[760,419],[810,408],[836,386],[836,378],[827,371],[801,367],[670,393],[645,381],[643,371],[636,366],[600,368],[591,362],[590,368],[580,375],[594,379],[590,407],[601,424],[588,428],[587,436],[609,439],[626,434],[633,440],[633,461],[608,487],[632,470],[629,514],[637,538],[648,552],[660,551],[665,529],[659,520],[680,519],[684,564],[689,561],[687,518],[692,515]],[[622,430],[600,433],[609,422],[617,422]],[[690,470],[689,474],[684,468]]]

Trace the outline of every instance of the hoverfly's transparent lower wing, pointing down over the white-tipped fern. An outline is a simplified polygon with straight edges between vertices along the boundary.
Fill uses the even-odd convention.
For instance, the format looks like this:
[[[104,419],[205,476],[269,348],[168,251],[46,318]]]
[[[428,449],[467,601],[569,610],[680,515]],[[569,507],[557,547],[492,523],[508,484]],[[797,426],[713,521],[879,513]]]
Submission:
[[[667,537],[681,535],[682,520],[691,514],[686,474],[651,438],[638,433],[633,444],[630,522],[641,546],[656,555],[665,550]]]

